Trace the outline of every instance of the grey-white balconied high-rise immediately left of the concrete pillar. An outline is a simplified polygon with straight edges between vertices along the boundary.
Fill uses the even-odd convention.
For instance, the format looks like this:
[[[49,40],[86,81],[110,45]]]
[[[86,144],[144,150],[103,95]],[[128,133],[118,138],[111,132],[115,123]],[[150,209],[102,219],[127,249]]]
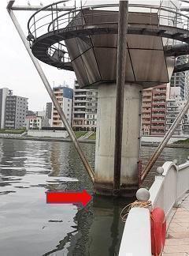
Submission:
[[[74,82],[72,128],[73,130],[96,130],[97,91],[81,89]]]

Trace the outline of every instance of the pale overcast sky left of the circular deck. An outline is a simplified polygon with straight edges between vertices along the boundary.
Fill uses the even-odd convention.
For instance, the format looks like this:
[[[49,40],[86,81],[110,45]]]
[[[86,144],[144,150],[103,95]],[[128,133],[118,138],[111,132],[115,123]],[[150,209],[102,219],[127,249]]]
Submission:
[[[31,4],[39,4],[38,0],[31,0]],[[49,2],[43,0],[43,4]],[[16,0],[16,5],[26,5],[28,0]],[[46,89],[35,70],[33,63],[24,48],[16,28],[13,26],[9,14],[6,11],[6,0],[0,1],[0,88],[7,87],[13,89],[14,94],[26,96],[29,98],[29,109],[34,111],[43,110],[46,102],[50,101]],[[32,12],[18,12],[15,14],[27,35],[27,22]],[[73,86],[74,73],[65,70],[57,70],[57,68],[42,63],[46,77],[50,84]]]

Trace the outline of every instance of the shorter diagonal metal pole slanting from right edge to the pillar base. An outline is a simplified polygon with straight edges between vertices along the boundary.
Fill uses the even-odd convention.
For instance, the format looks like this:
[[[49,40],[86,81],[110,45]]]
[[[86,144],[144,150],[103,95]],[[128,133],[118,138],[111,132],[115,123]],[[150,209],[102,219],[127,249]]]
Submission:
[[[180,121],[183,119],[183,115],[187,112],[189,108],[189,100],[187,100],[187,103],[184,105],[182,111],[180,111],[180,114],[177,115],[174,122],[172,122],[172,126],[169,128],[167,134],[165,134],[165,137],[163,141],[158,145],[158,148],[155,150],[154,154],[150,157],[150,160],[146,164],[146,167],[143,170],[143,174],[141,177],[141,181],[146,178],[146,175],[149,173],[150,169],[153,167],[154,163],[158,159],[158,156],[160,156],[162,150],[165,148],[165,145],[169,141],[169,138],[172,137],[172,134],[176,130],[176,127],[180,124]]]

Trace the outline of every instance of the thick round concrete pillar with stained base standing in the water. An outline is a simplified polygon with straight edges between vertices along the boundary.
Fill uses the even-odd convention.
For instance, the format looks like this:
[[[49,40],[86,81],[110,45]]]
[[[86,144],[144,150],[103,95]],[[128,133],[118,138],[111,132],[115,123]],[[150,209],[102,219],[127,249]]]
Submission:
[[[124,120],[121,163],[121,194],[133,196],[139,183],[139,148],[142,86],[124,86]],[[95,151],[95,192],[111,195],[115,144],[116,85],[98,86],[97,138]]]

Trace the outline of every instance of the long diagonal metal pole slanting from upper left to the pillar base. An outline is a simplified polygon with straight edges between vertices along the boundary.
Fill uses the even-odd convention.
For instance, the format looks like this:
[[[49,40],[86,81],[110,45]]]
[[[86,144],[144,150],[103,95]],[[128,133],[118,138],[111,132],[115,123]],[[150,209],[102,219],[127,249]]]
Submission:
[[[20,36],[22,42],[24,43],[24,46],[25,46],[26,50],[28,51],[28,54],[30,55],[31,60],[34,63],[35,68],[38,71],[39,76],[41,77],[41,79],[43,81],[43,84],[46,87],[46,91],[49,93],[49,96],[50,96],[51,100],[54,103],[54,107],[56,107],[56,109],[57,109],[57,113],[60,115],[61,120],[62,120],[62,122],[65,125],[65,129],[68,131],[69,136],[72,139],[72,142],[73,142],[73,144],[74,144],[74,146],[76,148],[76,151],[78,152],[78,154],[80,156],[80,159],[82,160],[83,165],[86,168],[86,170],[87,170],[87,172],[88,172],[88,174],[89,174],[89,176],[91,178],[91,181],[94,183],[95,182],[95,173],[92,170],[90,164],[88,163],[87,158],[84,156],[83,151],[80,148],[80,144],[78,143],[78,141],[76,139],[76,135],[74,134],[74,132],[72,130],[72,127],[69,126],[69,122],[67,121],[67,119],[65,117],[65,114],[62,111],[61,106],[60,106],[60,104],[57,101],[57,98],[54,96],[54,92],[53,92],[52,88],[50,87],[50,83],[47,80],[45,73],[43,72],[41,66],[39,65],[38,60],[34,57],[34,55],[32,55],[31,49],[30,49],[30,47],[28,45],[28,41],[26,40],[26,38],[24,36],[24,32],[23,32],[22,28],[20,27],[20,24],[18,23],[17,18],[15,17],[15,15],[13,13],[13,10],[9,9],[8,7],[9,6],[7,6],[7,10],[8,10],[9,16],[11,17],[11,19],[13,21],[13,24],[17,28],[17,32],[19,33],[19,36]]]

